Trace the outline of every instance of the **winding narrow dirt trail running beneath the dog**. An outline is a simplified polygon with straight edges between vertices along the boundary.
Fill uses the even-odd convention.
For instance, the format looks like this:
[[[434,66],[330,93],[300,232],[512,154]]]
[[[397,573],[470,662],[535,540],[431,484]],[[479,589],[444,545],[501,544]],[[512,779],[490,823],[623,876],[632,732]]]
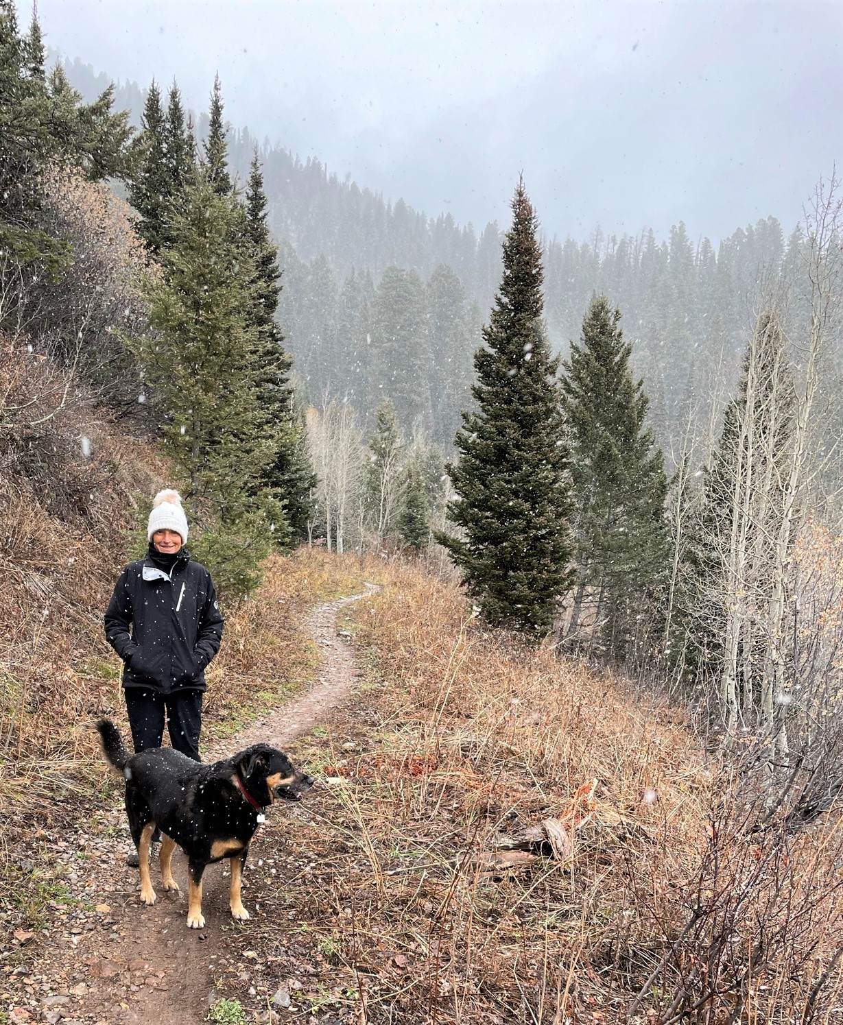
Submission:
[[[305,628],[318,645],[323,660],[311,690],[225,742],[203,748],[203,761],[228,756],[258,741],[286,748],[348,697],[356,680],[355,666],[348,644],[337,636],[336,618],[345,606],[376,589],[372,584],[366,584],[366,588],[361,594],[319,605],[307,617]],[[274,814],[295,814],[295,810],[285,808]],[[153,907],[145,907],[138,900],[136,872],[123,863],[127,850],[125,813],[122,808],[113,809],[104,819],[112,835],[94,845],[101,857],[106,855],[104,863],[95,867],[101,873],[99,899],[108,900],[109,906],[101,912],[105,918],[99,928],[83,924],[66,934],[67,947],[65,943],[61,948],[53,947],[53,965],[58,968],[64,962],[62,976],[68,982],[66,988],[56,991],[50,987],[52,992],[41,997],[40,1020],[61,1020],[63,1025],[82,1021],[99,1025],[200,1025],[206,1021],[208,1007],[215,998],[215,979],[228,967],[224,966],[225,946],[220,942],[220,931],[231,926],[229,879],[223,868],[225,864],[227,871],[228,865],[208,867],[203,880],[207,926],[189,930],[187,862],[182,852],[176,849],[173,857],[173,875],[180,892],[163,892],[155,861],[151,868],[158,901]],[[260,858],[263,853],[258,829],[249,860]],[[248,908],[248,890],[244,892],[244,903]],[[104,936],[109,929],[111,933]],[[71,985],[74,981],[76,985]]]

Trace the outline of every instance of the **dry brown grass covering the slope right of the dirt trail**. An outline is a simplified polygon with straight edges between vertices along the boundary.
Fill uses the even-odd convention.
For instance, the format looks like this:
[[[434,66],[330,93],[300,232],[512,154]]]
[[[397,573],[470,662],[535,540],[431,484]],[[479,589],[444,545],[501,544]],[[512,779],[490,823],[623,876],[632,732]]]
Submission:
[[[370,686],[298,752],[326,784],[310,822],[272,827],[284,877],[252,898],[294,926],[279,936],[270,915],[242,941],[314,976],[300,1007],[378,1023],[834,1021],[838,824],[753,834],[757,809],[681,711],[484,632],[417,569],[388,573],[351,613]],[[597,801],[572,808],[594,778]],[[570,857],[490,864],[501,834],[551,816]]]

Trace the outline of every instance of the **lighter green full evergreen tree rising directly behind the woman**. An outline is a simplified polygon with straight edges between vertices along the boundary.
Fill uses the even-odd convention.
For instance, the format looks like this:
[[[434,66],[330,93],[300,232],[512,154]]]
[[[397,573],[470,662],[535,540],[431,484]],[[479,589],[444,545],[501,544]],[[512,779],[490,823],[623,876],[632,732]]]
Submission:
[[[288,531],[280,504],[258,487],[278,438],[259,401],[256,268],[232,241],[242,219],[234,197],[197,175],[160,254],[163,276],[150,284],[154,330],[138,352],[194,517],[215,524],[193,547],[238,596],[257,582],[273,533]]]

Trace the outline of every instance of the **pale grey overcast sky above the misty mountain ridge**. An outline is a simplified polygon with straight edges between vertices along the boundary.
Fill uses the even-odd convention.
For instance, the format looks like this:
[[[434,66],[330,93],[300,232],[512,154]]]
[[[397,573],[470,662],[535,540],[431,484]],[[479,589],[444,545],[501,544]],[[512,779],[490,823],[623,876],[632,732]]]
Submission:
[[[26,20],[19,3],[22,22]],[[787,230],[840,157],[841,0],[38,0],[49,45],[340,177],[549,236]]]

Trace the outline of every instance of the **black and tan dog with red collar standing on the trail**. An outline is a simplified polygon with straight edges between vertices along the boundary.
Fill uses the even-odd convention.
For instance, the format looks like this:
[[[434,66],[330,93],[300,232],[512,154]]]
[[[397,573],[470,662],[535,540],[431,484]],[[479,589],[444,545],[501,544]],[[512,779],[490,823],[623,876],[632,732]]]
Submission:
[[[230,906],[234,918],[249,912],[240,899],[243,866],[249,843],[264,810],[276,799],[298,801],[313,786],[313,777],[296,772],[283,751],[253,744],[222,762],[203,765],[171,747],[151,747],[129,754],[117,727],[101,719],[96,730],[109,764],[125,780],[126,815],[140,861],[140,900],[154,904],[150,879],[150,843],[161,832],[161,884],[178,890],[172,877],[176,845],[188,856],[188,926],[203,929],[202,873],[223,858],[231,862]]]

